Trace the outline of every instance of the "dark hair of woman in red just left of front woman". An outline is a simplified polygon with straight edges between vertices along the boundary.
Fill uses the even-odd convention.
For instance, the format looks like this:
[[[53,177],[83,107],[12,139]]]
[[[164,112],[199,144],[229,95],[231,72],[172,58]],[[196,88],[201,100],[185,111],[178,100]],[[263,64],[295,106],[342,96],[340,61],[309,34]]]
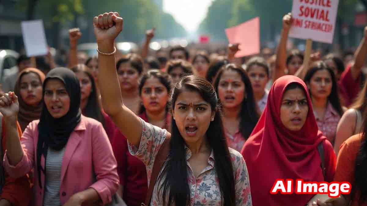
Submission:
[[[151,77],[157,78],[159,80],[159,82],[161,82],[161,84],[163,84],[164,87],[166,87],[168,95],[170,95],[171,85],[172,85],[171,77],[165,72],[153,69],[153,70],[149,70],[147,73],[145,73],[143,75],[143,77],[141,78],[141,80],[140,80],[140,83],[139,83],[139,95],[140,96],[141,96],[142,89],[144,87],[144,84],[145,84],[146,80],[148,80]],[[169,103],[167,102],[166,112],[168,111],[168,108],[169,108]],[[142,114],[143,112],[145,112],[145,107],[144,107],[143,104],[141,104],[138,114]]]

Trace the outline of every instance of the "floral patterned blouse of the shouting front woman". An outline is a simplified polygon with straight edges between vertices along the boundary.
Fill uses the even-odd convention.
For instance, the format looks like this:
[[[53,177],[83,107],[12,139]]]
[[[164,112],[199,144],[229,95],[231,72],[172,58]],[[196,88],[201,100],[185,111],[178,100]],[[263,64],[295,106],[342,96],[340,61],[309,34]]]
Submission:
[[[153,163],[155,161],[157,152],[163,144],[167,136],[167,130],[161,129],[152,124],[142,122],[142,136],[139,148],[128,143],[128,148],[131,155],[139,158],[146,165],[148,176],[148,185],[150,177],[152,176]],[[236,206],[252,206],[250,194],[250,182],[248,179],[246,163],[242,155],[229,148],[231,159],[233,162],[235,191],[236,191]],[[186,147],[186,160],[191,157],[191,151]],[[187,162],[188,167],[188,184],[190,185],[190,205],[191,206],[219,206],[222,205],[221,192],[218,187],[218,177],[215,172],[215,159],[213,151],[208,158],[208,166],[196,178],[190,163]],[[163,205],[162,195],[157,193],[158,185],[155,185],[152,194],[152,201],[150,205]]]

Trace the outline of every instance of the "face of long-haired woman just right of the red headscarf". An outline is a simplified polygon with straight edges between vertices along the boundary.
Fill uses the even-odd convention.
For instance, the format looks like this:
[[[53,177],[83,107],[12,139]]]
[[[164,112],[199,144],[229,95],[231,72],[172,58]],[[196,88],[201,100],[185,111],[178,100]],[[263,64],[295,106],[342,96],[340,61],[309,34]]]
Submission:
[[[311,77],[308,87],[312,97],[326,99],[330,95],[331,88],[333,87],[333,81],[328,70],[316,71]]]

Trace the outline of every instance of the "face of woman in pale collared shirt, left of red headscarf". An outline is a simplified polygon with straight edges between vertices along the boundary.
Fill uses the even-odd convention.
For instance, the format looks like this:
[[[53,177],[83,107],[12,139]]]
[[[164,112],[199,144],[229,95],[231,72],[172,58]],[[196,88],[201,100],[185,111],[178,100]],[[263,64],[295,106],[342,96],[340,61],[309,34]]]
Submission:
[[[247,68],[247,74],[254,93],[264,93],[266,84],[269,81],[266,69],[259,65],[252,65],[250,68]]]

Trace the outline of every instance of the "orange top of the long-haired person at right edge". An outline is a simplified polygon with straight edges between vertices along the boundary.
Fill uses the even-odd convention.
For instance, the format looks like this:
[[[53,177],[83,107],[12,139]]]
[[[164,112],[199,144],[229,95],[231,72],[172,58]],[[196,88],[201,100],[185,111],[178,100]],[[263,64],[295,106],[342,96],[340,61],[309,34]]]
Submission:
[[[362,140],[363,136],[361,134],[353,135],[345,140],[340,146],[334,181],[347,181],[352,184],[353,188],[356,157],[358,150],[361,147]],[[353,198],[353,202],[350,206],[367,206],[367,203],[359,205],[357,202],[358,199],[359,198]]]

